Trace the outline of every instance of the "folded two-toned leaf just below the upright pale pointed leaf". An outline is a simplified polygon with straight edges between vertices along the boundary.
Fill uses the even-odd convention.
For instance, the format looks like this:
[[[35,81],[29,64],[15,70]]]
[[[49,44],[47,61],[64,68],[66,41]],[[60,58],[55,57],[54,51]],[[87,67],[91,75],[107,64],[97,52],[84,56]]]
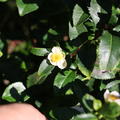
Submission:
[[[77,38],[83,32],[87,32],[87,28],[85,27],[85,25],[83,23],[81,23],[77,26],[73,26],[73,27],[69,23],[69,37],[70,37],[70,40],[73,40],[73,39]]]

